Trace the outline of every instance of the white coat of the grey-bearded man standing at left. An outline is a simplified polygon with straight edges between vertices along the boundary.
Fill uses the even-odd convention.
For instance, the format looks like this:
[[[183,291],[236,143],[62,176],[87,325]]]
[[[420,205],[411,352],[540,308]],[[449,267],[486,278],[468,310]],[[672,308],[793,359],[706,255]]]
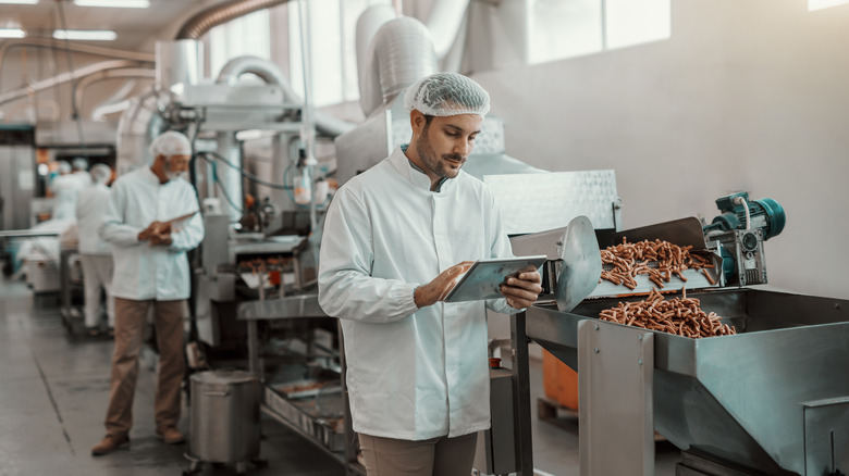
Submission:
[[[175,301],[189,296],[186,251],[204,239],[200,214],[172,225],[170,246],[139,241],[155,221],[165,222],[198,211],[195,188],[183,178],[160,184],[150,167],[120,176],[112,185],[100,222],[100,237],[112,245],[112,293],[132,300]]]

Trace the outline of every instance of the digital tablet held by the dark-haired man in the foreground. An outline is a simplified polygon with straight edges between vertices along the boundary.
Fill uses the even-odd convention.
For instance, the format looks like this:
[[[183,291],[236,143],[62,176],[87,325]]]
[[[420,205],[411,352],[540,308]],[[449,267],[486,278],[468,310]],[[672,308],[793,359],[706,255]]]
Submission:
[[[445,302],[478,301],[481,299],[501,298],[499,291],[504,280],[516,275],[528,265],[537,270],[545,263],[547,256],[517,256],[479,260],[460,278],[459,283],[445,297]]]

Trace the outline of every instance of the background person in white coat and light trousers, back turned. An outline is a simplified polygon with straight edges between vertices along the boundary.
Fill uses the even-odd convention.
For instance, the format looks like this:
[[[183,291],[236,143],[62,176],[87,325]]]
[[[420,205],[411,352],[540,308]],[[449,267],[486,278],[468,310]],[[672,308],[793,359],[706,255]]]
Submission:
[[[85,324],[89,335],[100,334],[100,291],[106,291],[109,329],[115,327],[115,301],[112,299],[112,247],[100,239],[97,228],[109,199],[107,184],[112,170],[107,164],[91,167],[94,184],[79,192],[76,201],[76,226],[79,233],[79,261],[83,264],[85,289]]]

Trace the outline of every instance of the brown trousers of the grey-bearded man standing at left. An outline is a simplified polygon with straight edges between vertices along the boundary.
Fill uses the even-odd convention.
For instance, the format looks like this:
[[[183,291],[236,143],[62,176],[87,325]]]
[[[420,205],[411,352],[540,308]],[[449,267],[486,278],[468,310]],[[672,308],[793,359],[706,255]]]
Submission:
[[[127,435],[133,427],[133,397],[138,378],[138,352],[148,308],[155,306],[153,325],[159,347],[155,399],[157,429],[180,422],[180,384],[183,380],[183,317],[185,301],[133,301],[115,298],[115,350],[106,427],[109,435]]]

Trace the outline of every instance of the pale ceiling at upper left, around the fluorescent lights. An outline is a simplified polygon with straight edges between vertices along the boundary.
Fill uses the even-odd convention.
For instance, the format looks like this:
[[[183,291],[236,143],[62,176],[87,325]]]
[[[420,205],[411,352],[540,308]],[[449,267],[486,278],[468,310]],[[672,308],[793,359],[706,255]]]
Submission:
[[[28,37],[52,37],[62,28],[111,29],[114,41],[86,41],[93,46],[153,52],[156,40],[173,39],[176,29],[196,12],[222,0],[150,0],[147,9],[77,7],[71,0],[39,0],[35,5],[0,3],[0,27],[21,27]],[[0,43],[2,43],[0,39]]]

